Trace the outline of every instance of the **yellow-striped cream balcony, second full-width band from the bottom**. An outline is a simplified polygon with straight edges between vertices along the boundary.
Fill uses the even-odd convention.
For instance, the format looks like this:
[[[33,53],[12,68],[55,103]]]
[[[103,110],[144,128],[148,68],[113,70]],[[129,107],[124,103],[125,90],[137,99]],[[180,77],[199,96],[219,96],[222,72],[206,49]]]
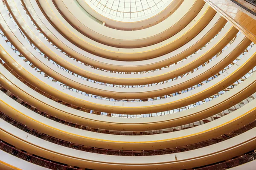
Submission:
[[[251,101],[245,108],[233,111],[219,119],[207,124],[192,127],[186,130],[175,131],[172,133],[162,133],[145,136],[123,136],[105,133],[95,133],[74,127],[69,127],[56,123],[46,117],[25,108],[1,92],[1,107],[6,114],[17,121],[32,127],[41,133],[57,137],[69,142],[83,144],[93,147],[106,147],[106,149],[118,150],[149,150],[163,149],[194,144],[229,133],[234,127],[242,127],[255,118],[255,102]],[[8,104],[7,104],[8,103]],[[36,121],[35,121],[36,120]],[[39,121],[40,120],[40,121]],[[248,122],[249,121],[249,122]],[[229,122],[228,124],[226,122]],[[158,139],[157,141],[155,139]],[[143,143],[143,145],[141,145]]]

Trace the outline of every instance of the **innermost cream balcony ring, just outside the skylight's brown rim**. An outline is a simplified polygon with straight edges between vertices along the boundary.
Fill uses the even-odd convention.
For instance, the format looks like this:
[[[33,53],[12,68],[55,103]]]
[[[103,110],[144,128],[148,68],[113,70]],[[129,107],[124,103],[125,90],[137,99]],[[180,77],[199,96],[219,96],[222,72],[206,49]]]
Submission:
[[[144,47],[156,44],[168,39],[169,37],[172,37],[173,35],[177,34],[177,32],[182,30],[186,25],[188,25],[204,5],[204,1],[202,0],[174,0],[171,2],[170,6],[167,7],[169,9],[165,9],[168,10],[169,14],[160,20],[155,20],[158,21],[155,22],[157,24],[149,23],[150,21],[147,21],[148,26],[134,28],[132,25],[139,25],[141,23],[129,22],[129,24],[126,24],[128,25],[127,28],[117,30],[115,28],[113,29],[112,26],[109,27],[109,23],[111,21],[108,22],[104,20],[105,26],[103,26],[89,19],[87,16],[81,15],[84,13],[84,9],[81,8],[79,4],[80,2],[70,2],[68,0],[53,1],[60,14],[81,34],[84,34],[85,36],[90,37],[91,39],[102,44],[119,48]],[[152,18],[150,18],[150,20],[151,19]],[[120,22],[118,25],[116,25],[117,28],[123,23],[124,22]],[[120,36],[117,36],[117,34]]]

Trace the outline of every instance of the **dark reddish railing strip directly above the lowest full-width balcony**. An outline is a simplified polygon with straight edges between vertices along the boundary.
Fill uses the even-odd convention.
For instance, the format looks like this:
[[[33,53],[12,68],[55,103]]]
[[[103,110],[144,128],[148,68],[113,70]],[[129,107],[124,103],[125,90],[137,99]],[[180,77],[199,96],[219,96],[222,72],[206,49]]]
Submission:
[[[5,120],[6,122],[12,124],[13,126],[25,131],[26,133],[29,133],[33,136],[36,136],[40,139],[44,139],[48,142],[52,142],[64,147],[73,148],[76,150],[81,150],[85,152],[91,152],[91,153],[99,153],[99,154],[105,154],[105,155],[116,155],[116,156],[154,156],[154,155],[164,155],[164,154],[170,154],[170,153],[178,153],[178,152],[185,152],[188,150],[194,150],[201,147],[206,147],[212,144],[216,144],[222,141],[225,141],[227,139],[233,138],[235,136],[240,135],[241,133],[244,133],[254,127],[256,127],[256,120],[251,122],[250,124],[245,125],[244,127],[241,127],[239,129],[233,130],[230,133],[221,135],[217,138],[212,138],[207,141],[198,142],[196,144],[189,144],[186,146],[181,147],[174,147],[174,148],[168,148],[168,149],[160,149],[160,150],[110,150],[110,149],[102,149],[102,148],[96,148],[96,147],[87,147],[80,144],[75,144],[71,142],[67,142],[61,139],[57,139],[55,137],[49,136],[44,133],[40,133],[37,130],[34,130],[32,128],[27,127],[26,125],[23,125],[16,120],[12,119],[11,117],[7,116],[4,113],[0,112],[0,118]]]

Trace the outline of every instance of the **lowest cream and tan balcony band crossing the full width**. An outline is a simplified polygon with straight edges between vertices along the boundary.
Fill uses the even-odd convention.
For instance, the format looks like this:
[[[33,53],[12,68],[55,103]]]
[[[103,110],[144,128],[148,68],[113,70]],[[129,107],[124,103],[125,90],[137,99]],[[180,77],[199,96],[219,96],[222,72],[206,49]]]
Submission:
[[[7,122],[5,125],[5,129],[7,131],[12,131],[12,133],[15,136],[16,135],[20,136],[20,139],[17,139],[15,136],[9,135],[7,133],[3,133],[3,131],[1,130],[1,133],[5,136],[6,142],[11,143],[12,145],[15,145],[17,147],[21,147],[23,145],[26,147],[26,151],[28,151],[29,153],[35,153],[35,150],[37,150],[37,153],[35,153],[35,154],[37,154],[37,155],[39,154],[38,156],[41,156],[41,153],[44,153],[44,156],[47,158],[51,158],[51,160],[59,161],[59,162],[66,162],[67,164],[70,164],[70,165],[76,164],[76,166],[79,166],[79,167],[86,166],[86,167],[92,168],[92,166],[95,164],[96,167],[94,167],[94,168],[96,168],[96,169],[101,169],[99,166],[104,167],[105,162],[108,162],[108,163],[111,162],[111,169],[118,169],[121,167],[124,169],[128,169],[131,167],[123,164],[122,162],[125,161],[126,163],[129,162],[130,164],[133,164],[133,162],[135,160],[139,160],[140,162],[141,161],[151,162],[150,164],[148,164],[147,168],[152,169],[152,168],[154,168],[155,162],[165,162],[166,163],[166,162],[168,162],[168,161],[166,161],[166,159],[169,159],[168,167],[170,165],[172,165],[173,167],[175,167],[177,169],[180,169],[180,166],[184,165],[184,162],[182,161],[183,159],[189,160],[189,162],[186,162],[186,164],[185,164],[186,167],[184,167],[184,168],[189,168],[192,166],[200,166],[200,164],[207,164],[207,163],[210,164],[210,163],[214,163],[216,161],[218,162],[223,159],[227,160],[227,159],[230,159],[230,157],[234,157],[239,154],[243,154],[244,152],[253,150],[253,148],[255,147],[255,145],[253,145],[253,141],[254,141],[253,133],[255,131],[255,128],[253,128],[244,133],[239,132],[240,138],[233,137],[228,140],[219,142],[218,144],[212,144],[209,146],[205,146],[204,148],[199,148],[199,149],[195,149],[195,150],[189,150],[189,151],[184,151],[184,152],[179,152],[179,153],[169,153],[168,155],[155,155],[155,156],[139,156],[139,154],[137,154],[137,156],[135,156],[135,155],[134,156],[116,156],[116,155],[111,156],[111,155],[105,155],[104,152],[102,154],[84,152],[82,150],[63,147],[58,144],[54,144],[52,142],[47,142],[43,139],[39,139],[38,137],[35,137],[26,132],[23,132],[22,130],[18,130],[16,127],[10,125]],[[17,130],[17,132],[15,132],[13,130]],[[19,132],[19,134],[18,134],[18,132]],[[26,136],[28,136],[28,135],[29,135],[29,137],[26,138]],[[244,141],[244,142],[242,142],[242,141]],[[20,144],[18,144],[17,142]],[[30,144],[28,145],[27,142],[29,142]],[[239,142],[241,142],[243,144],[239,144]],[[40,145],[40,148],[37,147],[38,149],[35,149],[35,146],[38,146],[38,145]],[[34,148],[34,151],[32,148]],[[47,150],[45,150],[45,149],[47,149]],[[216,156],[213,156],[214,154],[212,154],[213,153],[212,149],[215,150],[214,154],[217,154],[218,159],[216,159],[217,158]],[[39,150],[40,150],[40,152],[38,152]],[[217,150],[217,152],[216,152],[216,150]],[[57,156],[57,154],[53,153],[52,151],[58,153],[58,156]],[[202,161],[204,160],[203,162],[196,161],[196,162],[201,162],[199,164],[195,164],[195,159],[193,159],[193,158],[195,158],[196,152],[201,153],[199,156],[197,156],[197,160],[198,159],[200,159]],[[66,154],[66,156],[62,156],[63,153]],[[80,153],[80,154],[77,154],[77,153]],[[74,157],[72,157],[72,158],[70,157],[70,156],[73,156],[74,154],[76,154],[76,156],[74,156],[75,159],[74,159]],[[208,156],[205,156],[205,154],[208,154]],[[78,158],[78,155],[80,155],[79,158]],[[175,161],[175,155],[177,157],[176,161]],[[166,158],[166,156],[168,158]],[[62,158],[62,159],[60,159],[60,158]],[[86,160],[84,158],[86,158]],[[103,158],[106,158],[106,159],[103,159]],[[152,161],[152,159],[156,159],[156,158],[158,158],[158,159],[155,161]],[[92,160],[94,163],[93,164],[89,163],[92,161],[88,161],[88,159]],[[100,159],[105,160],[105,161],[104,162],[101,161],[102,162],[101,165],[96,164],[95,161],[98,161]],[[110,159],[112,161],[110,161]],[[205,161],[206,159],[209,161]],[[115,164],[114,162],[119,162],[119,165]],[[135,161],[135,162],[137,162],[137,161]],[[181,162],[182,162],[182,165],[180,165]],[[163,164],[158,164],[158,165],[165,167]],[[134,165],[134,166],[138,166],[138,165]]]

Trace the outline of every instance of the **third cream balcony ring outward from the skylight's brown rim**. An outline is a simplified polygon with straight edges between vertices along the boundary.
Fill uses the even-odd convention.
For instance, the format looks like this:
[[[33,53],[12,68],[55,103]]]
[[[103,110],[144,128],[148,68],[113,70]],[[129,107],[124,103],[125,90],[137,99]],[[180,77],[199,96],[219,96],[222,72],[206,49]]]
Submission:
[[[184,45],[183,48],[180,48],[181,51],[185,50],[186,52],[179,54],[175,53],[177,59],[174,59],[174,57],[171,57],[170,55],[164,55],[162,57],[157,57],[155,59],[148,59],[143,61],[137,61],[137,62],[122,62],[122,61],[116,61],[116,60],[109,60],[102,57],[98,57],[96,55],[90,54],[86,51],[82,51],[81,48],[78,48],[76,45],[73,45],[68,40],[65,40],[65,38],[58,33],[58,31],[55,30],[55,28],[49,23],[49,21],[44,17],[43,13],[40,13],[41,10],[38,8],[36,4],[33,2],[27,2],[25,3],[25,9],[26,12],[31,16],[32,21],[34,23],[34,26],[39,26],[38,29],[44,33],[49,40],[49,42],[55,44],[59,48],[65,51],[64,54],[68,54],[69,56],[74,56],[79,61],[96,66],[97,68],[104,68],[105,70],[113,70],[113,71],[125,71],[125,72],[131,72],[131,71],[145,71],[145,70],[151,70],[151,69],[157,69],[160,67],[165,67],[168,64],[173,64],[175,62],[178,62],[180,57],[189,56],[193,54],[193,52],[198,51],[203,45],[205,45],[207,42],[209,42],[209,37],[214,37],[215,34],[209,34],[208,36],[204,36],[202,39],[203,41],[199,44],[197,43],[201,37],[205,34],[199,33],[200,36],[197,36],[199,39],[193,40],[188,42],[189,46]],[[32,4],[31,4],[32,3]],[[17,4],[17,8],[19,7],[19,4]],[[16,11],[17,9],[15,9]],[[20,10],[21,11],[21,10]],[[22,12],[20,12],[22,13]],[[26,17],[24,17],[24,20],[26,20]],[[28,23],[28,22],[26,22]],[[198,35],[199,35],[198,34]],[[66,45],[65,45],[66,44]],[[197,45],[197,46],[195,46]],[[192,48],[189,48],[190,46],[193,46]],[[63,51],[62,51],[63,52]],[[58,54],[58,53],[56,53]],[[58,54],[61,56],[61,54]],[[63,58],[63,57],[62,57]],[[91,58],[91,59],[90,59]]]

